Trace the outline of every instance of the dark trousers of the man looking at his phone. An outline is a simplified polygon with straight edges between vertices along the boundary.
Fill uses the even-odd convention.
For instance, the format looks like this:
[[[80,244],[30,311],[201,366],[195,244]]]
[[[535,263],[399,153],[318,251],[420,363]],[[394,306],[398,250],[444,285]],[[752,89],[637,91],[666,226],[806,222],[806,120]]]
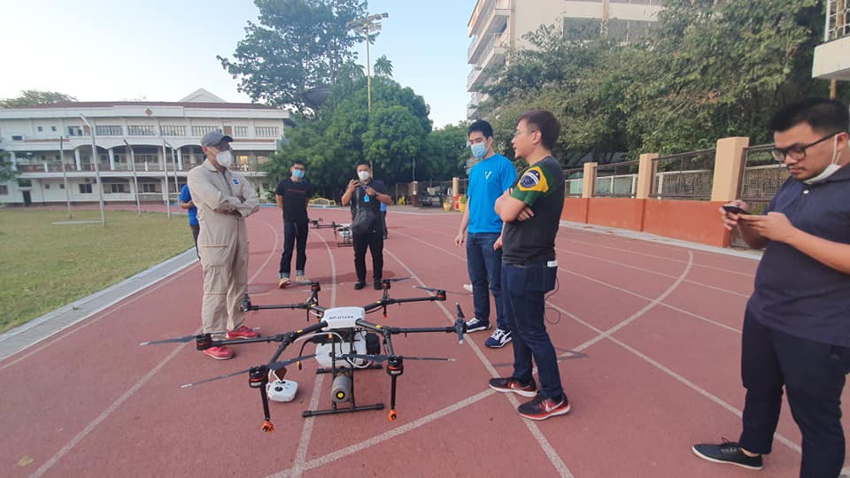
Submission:
[[[749,311],[742,341],[746,401],[741,448],[770,452],[784,385],[803,436],[800,476],[837,477],[844,465],[841,390],[850,371],[850,349],[784,334],[764,326]]]

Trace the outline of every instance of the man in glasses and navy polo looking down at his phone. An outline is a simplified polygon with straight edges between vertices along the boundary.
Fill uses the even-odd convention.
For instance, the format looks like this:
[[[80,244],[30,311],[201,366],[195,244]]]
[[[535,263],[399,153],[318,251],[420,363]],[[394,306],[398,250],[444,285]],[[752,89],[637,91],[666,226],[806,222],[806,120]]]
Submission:
[[[850,372],[850,150],[845,104],[808,99],[770,120],[774,157],[791,177],[765,215],[741,200],[723,226],[765,249],[746,305],[737,443],[694,445],[700,458],[761,469],[771,451],[783,386],[802,432],[800,476],[836,477],[844,466],[841,392]]]

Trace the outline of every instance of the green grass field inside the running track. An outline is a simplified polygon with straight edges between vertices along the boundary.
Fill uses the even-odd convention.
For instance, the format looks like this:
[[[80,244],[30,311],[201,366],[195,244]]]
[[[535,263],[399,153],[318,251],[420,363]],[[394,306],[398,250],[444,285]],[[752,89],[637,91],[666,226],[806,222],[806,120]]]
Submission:
[[[54,225],[65,211],[0,210],[0,332],[127,279],[192,246],[185,216],[106,212]],[[100,220],[74,211],[73,220]]]

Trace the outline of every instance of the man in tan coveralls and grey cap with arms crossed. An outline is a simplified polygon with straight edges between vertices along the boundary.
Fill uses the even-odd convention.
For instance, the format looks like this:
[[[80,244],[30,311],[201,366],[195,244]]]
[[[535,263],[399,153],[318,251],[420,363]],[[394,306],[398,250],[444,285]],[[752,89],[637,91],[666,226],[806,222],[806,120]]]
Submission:
[[[245,218],[259,210],[257,193],[242,174],[230,171],[233,161],[228,135],[212,131],[201,138],[206,160],[189,171],[189,189],[197,206],[201,233],[197,246],[204,268],[204,333],[227,334],[228,339],[259,334],[243,325],[240,301],[248,287],[248,232]],[[227,346],[204,353],[218,360],[234,357]]]

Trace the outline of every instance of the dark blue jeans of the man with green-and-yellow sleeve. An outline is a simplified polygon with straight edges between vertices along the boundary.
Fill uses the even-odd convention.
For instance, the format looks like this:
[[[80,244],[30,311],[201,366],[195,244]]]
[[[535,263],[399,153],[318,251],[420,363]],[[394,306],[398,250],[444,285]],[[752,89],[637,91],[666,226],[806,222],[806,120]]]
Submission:
[[[537,363],[540,393],[546,398],[559,399],[564,394],[558,371],[558,355],[546,332],[544,320],[545,294],[555,288],[558,267],[545,262],[502,264],[502,283],[505,284],[505,313],[514,330],[514,374],[520,382],[528,383],[531,359]]]

